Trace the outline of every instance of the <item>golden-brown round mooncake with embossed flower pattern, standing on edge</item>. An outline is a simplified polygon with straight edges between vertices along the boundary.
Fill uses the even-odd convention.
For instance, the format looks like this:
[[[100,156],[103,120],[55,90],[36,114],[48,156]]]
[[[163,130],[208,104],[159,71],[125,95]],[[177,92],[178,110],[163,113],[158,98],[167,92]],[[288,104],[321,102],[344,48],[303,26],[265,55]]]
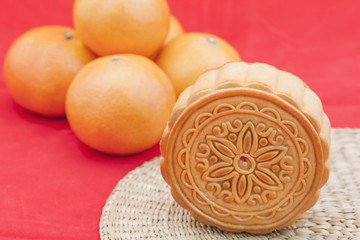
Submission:
[[[161,140],[161,173],[198,221],[269,233],[318,200],[330,128],[319,97],[298,77],[228,63],[179,96]]]

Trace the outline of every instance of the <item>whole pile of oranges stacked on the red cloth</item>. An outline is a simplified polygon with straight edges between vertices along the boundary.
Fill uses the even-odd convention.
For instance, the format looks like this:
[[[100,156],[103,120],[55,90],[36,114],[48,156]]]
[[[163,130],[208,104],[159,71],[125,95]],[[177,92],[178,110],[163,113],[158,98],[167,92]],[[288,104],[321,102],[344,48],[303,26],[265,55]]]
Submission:
[[[67,117],[85,144],[133,154],[161,138],[177,96],[238,53],[223,39],[184,33],[166,0],[75,0],[75,30],[34,28],[4,63],[14,100]]]

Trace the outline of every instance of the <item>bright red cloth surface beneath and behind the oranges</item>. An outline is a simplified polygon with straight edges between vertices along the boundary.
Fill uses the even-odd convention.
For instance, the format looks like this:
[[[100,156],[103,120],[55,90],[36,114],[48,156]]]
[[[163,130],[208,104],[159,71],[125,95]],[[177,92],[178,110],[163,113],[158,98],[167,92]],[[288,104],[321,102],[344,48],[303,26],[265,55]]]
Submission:
[[[101,2],[101,1],[99,1]],[[41,25],[72,26],[72,0],[1,0],[0,65],[12,41]],[[248,62],[299,76],[333,127],[360,127],[360,2],[169,0],[186,31],[219,35]],[[98,239],[118,180],[159,154],[98,153],[66,119],[19,107],[0,77],[0,239]]]

